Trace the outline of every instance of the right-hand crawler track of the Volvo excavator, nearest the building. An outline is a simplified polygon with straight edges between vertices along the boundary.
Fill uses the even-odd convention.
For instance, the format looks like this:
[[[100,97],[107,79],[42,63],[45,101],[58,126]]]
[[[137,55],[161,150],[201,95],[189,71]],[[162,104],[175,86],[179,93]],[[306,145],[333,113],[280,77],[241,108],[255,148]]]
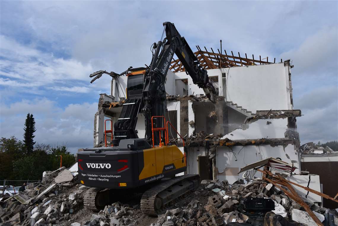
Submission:
[[[166,197],[168,198],[168,200],[166,201],[166,203],[161,203],[161,199],[159,198],[159,194],[162,192],[166,192],[170,193],[171,190],[170,188],[173,185],[176,185],[180,182],[183,182],[185,180],[189,180],[189,181],[194,181],[194,180],[198,180],[199,181],[199,176],[198,175],[184,175],[184,176],[179,176],[179,177],[175,177],[166,181],[161,182],[158,185],[155,185],[154,187],[148,189],[147,191],[145,191],[145,193],[143,193],[142,199],[141,199],[141,210],[143,213],[147,214],[147,215],[153,215],[156,216],[158,214],[160,214],[161,212],[163,212],[163,209],[165,207],[166,204],[170,204],[171,202],[175,201],[175,199],[179,199],[181,196],[179,196],[178,198],[170,198],[170,197]],[[199,184],[199,183],[197,183]],[[186,190],[185,194],[191,192],[193,189],[195,189],[196,187],[194,186],[192,189]]]

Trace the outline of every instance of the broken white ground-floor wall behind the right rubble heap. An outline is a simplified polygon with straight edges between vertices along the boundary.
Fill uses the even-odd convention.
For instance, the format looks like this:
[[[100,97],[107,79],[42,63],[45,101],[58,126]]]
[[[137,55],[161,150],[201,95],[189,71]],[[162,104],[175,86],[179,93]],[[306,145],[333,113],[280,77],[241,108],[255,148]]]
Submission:
[[[295,150],[295,145],[292,144],[285,147],[282,145],[247,145],[233,146],[231,148],[218,146],[216,153],[217,179],[226,179],[229,183],[242,178],[243,173],[237,174],[240,168],[250,162],[268,157],[281,158],[285,162],[293,163],[297,167],[295,173],[299,173],[298,151]],[[255,176],[262,177],[259,172]]]

